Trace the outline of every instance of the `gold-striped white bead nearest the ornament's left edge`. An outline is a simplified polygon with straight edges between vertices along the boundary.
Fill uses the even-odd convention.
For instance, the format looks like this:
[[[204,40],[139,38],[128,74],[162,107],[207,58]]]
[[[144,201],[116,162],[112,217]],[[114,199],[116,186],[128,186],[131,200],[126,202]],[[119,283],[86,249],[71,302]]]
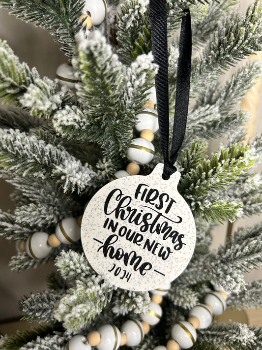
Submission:
[[[81,237],[80,226],[75,218],[63,219],[56,227],[56,236],[64,244],[71,244]]]

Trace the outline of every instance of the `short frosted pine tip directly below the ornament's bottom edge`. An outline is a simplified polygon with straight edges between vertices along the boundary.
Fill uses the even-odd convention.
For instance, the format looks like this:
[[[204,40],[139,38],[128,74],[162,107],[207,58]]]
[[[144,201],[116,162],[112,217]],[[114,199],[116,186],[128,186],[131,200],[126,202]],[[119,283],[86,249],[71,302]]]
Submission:
[[[116,315],[146,314],[150,303],[149,293],[117,289],[111,300],[112,312]]]

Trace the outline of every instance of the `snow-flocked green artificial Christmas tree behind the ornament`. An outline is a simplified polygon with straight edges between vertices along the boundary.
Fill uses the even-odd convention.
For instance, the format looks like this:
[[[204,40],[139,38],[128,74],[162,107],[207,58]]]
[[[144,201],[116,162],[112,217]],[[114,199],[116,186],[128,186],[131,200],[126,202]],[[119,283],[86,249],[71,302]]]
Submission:
[[[96,11],[105,10],[103,0],[89,2],[101,2]],[[55,35],[78,81],[74,91],[66,85],[60,88],[57,80],[40,77],[0,42],[0,97],[9,104],[0,109],[0,173],[15,186],[16,201],[14,213],[0,213],[0,234],[19,241],[22,249],[34,232],[52,235],[61,220],[81,216],[88,200],[126,168],[130,143],[139,137],[136,115],[145,108],[157,73],[149,0],[108,0],[105,20],[89,31],[86,16],[81,17],[85,3],[88,0],[0,0],[0,6],[18,18]],[[262,178],[249,172],[261,159],[262,141],[257,136],[243,143],[249,115],[239,109],[261,76],[262,65],[243,61],[229,81],[219,82],[232,66],[262,50],[261,2],[255,1],[245,14],[237,12],[236,3],[167,0],[170,111],[175,108],[178,59],[173,34],[184,8],[190,8],[192,16],[191,107],[176,166],[181,173],[178,191],[194,215],[197,241],[189,265],[163,299],[161,321],[136,350],[166,345],[173,325],[188,319],[212,285],[229,293],[231,308],[262,305],[262,281],[247,284],[243,278],[262,263],[262,224],[238,229],[216,252],[208,250],[215,223],[262,211]],[[98,14],[88,15],[95,24]],[[170,117],[172,121],[173,113]],[[207,141],[221,136],[225,143],[208,157]],[[142,175],[163,161],[157,132],[152,143],[155,156],[140,167]],[[97,275],[80,241],[50,251],[41,259],[19,252],[10,261],[10,268],[19,272],[54,260],[58,272],[47,277],[49,289],[24,296],[19,303],[24,319],[49,323],[3,337],[0,349],[60,350],[75,334],[87,336],[106,323],[120,328],[125,320],[147,313],[149,293],[116,288]],[[213,322],[197,334],[196,350],[262,348],[262,329],[256,326]],[[170,344],[174,348],[169,349],[176,349]],[[67,349],[77,349],[71,346]]]

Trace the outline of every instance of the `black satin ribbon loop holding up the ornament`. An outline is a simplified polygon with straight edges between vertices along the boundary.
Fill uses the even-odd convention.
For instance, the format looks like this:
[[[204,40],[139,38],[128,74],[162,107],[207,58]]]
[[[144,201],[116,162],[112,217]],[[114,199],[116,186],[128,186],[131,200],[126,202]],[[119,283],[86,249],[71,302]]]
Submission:
[[[174,128],[169,148],[169,87],[168,87],[168,35],[167,35],[167,2],[150,0],[150,20],[154,62],[159,65],[155,76],[157,113],[161,149],[164,156],[163,178],[175,173],[175,161],[182,145],[187,122],[192,34],[189,9],[184,9],[179,40],[179,58],[177,65]]]

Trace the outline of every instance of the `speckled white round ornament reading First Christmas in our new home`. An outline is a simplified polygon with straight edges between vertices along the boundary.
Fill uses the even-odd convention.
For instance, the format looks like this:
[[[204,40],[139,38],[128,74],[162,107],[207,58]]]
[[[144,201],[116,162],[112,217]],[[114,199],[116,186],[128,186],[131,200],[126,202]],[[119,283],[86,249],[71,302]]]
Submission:
[[[90,200],[81,236],[94,270],[128,290],[152,290],[179,276],[193,255],[193,215],[177,192],[180,173],[162,178],[163,164],[148,176],[110,182]]]

